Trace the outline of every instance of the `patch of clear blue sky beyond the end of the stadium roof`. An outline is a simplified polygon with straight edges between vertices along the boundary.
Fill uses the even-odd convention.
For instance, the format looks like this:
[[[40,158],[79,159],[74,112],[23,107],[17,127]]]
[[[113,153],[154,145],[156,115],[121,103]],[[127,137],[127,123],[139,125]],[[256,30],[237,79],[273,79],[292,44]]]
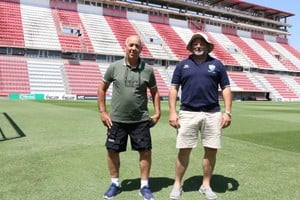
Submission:
[[[288,18],[288,23],[292,25],[288,31],[291,36],[288,37],[289,44],[300,51],[300,4],[297,0],[243,0],[244,2],[254,3],[277,10],[286,11],[295,14]]]

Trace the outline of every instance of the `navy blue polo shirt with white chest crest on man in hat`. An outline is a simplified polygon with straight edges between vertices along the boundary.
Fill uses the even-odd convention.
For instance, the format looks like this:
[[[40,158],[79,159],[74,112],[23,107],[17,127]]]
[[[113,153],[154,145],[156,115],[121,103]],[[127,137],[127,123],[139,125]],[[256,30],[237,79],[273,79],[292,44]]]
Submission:
[[[179,62],[171,84],[181,86],[180,110],[204,112],[220,111],[218,89],[230,86],[225,66],[211,56],[201,64],[192,56]]]

